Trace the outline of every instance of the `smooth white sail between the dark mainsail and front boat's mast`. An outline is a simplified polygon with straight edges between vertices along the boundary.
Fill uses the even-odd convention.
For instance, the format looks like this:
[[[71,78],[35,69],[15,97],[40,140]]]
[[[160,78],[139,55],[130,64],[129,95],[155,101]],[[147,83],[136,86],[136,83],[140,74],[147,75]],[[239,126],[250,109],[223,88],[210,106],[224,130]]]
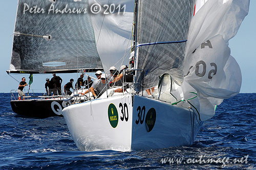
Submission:
[[[104,71],[108,72],[111,66],[115,66],[118,69],[121,65],[128,65],[132,44],[131,33],[133,29],[134,0],[89,0],[89,4],[90,7],[93,4],[100,4],[102,12],[105,11],[103,8],[104,5],[109,5],[110,7],[111,4],[114,4],[116,8],[118,5],[120,5],[120,8],[125,5],[124,13],[110,13],[105,15],[99,13],[90,15],[95,33],[97,51]],[[124,55],[125,57],[123,59]]]

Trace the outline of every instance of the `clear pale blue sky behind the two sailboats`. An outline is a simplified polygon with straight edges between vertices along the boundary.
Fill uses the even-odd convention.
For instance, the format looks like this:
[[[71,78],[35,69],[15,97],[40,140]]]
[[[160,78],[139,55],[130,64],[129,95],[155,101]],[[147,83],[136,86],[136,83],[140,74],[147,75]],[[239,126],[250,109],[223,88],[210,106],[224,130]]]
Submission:
[[[7,75],[6,70],[9,69],[12,51],[12,34],[14,30],[17,0],[2,0],[0,10],[0,92],[10,92],[17,89],[18,82]],[[231,55],[236,58],[242,71],[242,93],[256,92],[256,1],[250,1],[249,14],[245,17],[237,35],[229,41]],[[26,77],[28,82],[29,75],[12,75],[18,81],[22,77]],[[71,78],[77,79],[77,74],[58,74],[63,79],[63,83],[69,82]],[[234,75],[236,76],[236,75]],[[33,89],[45,91],[45,79],[51,78],[52,75],[34,76],[34,82],[31,86]]]

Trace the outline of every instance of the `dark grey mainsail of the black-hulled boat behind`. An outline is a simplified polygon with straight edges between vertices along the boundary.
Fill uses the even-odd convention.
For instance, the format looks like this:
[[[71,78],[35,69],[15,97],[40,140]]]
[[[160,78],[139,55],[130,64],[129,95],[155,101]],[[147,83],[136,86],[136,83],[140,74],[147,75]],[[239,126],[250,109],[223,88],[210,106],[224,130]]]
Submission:
[[[9,72],[102,69],[88,9],[88,0],[19,0]]]

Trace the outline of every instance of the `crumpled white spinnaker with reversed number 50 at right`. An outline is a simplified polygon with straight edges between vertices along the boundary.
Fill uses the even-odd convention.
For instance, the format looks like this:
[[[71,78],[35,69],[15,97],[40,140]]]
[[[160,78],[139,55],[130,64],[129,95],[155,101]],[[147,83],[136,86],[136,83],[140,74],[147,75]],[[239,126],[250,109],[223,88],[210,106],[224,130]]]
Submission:
[[[208,0],[191,20],[184,63],[184,99],[190,100],[201,120],[215,114],[216,105],[239,93],[241,70],[230,56],[228,40],[248,14],[249,0]]]

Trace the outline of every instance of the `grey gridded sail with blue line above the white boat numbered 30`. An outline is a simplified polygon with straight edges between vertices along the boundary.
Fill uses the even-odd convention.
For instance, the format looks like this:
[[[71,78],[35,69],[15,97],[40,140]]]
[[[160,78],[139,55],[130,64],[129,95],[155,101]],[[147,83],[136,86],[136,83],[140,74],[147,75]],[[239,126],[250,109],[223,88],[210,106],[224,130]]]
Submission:
[[[185,42],[194,5],[194,0],[139,1],[136,69],[144,71],[144,89],[156,86],[163,74],[182,83]]]

